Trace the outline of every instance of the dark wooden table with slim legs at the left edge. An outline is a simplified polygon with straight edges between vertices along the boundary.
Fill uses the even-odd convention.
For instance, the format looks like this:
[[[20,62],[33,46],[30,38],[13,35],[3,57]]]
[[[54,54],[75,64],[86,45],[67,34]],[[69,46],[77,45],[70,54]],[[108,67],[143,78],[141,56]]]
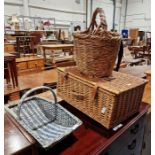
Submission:
[[[15,63],[15,56],[9,53],[4,53],[4,74],[7,76],[7,81],[12,79],[13,87],[18,86],[17,70]]]

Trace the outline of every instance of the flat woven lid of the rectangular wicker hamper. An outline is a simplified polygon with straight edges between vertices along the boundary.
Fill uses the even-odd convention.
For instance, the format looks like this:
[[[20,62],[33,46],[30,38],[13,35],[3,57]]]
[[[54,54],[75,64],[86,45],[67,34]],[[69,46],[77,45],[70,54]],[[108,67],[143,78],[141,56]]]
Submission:
[[[115,71],[112,72],[111,77],[91,78],[81,74],[77,67],[59,67],[58,70],[65,74],[67,73],[84,83],[89,83],[114,94],[120,94],[148,82],[148,80]]]

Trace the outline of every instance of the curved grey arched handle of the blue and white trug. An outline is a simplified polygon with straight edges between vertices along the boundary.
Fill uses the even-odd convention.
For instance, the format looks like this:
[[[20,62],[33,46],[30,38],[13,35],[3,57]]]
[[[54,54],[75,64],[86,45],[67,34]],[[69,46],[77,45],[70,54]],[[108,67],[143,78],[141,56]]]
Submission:
[[[55,92],[50,88],[50,87],[46,87],[46,86],[41,86],[41,87],[36,87],[36,88],[32,88],[30,89],[29,91],[27,91],[23,96],[22,98],[20,99],[19,103],[18,103],[18,112],[17,112],[17,115],[20,119],[20,110],[21,110],[21,106],[22,104],[24,103],[25,99],[33,92],[37,91],[37,90],[41,90],[41,89],[47,89],[51,92],[51,94],[53,95],[54,97],[54,103],[56,104],[57,103],[57,97],[56,97],[56,94]]]

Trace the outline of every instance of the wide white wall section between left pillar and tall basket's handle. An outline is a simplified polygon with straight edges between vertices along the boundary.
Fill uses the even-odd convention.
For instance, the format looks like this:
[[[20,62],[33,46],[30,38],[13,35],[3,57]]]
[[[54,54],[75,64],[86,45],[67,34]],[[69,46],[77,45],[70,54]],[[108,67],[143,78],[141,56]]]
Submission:
[[[80,4],[75,0],[29,0],[31,16],[53,17],[57,20],[85,21],[85,7],[85,0],[81,0]]]

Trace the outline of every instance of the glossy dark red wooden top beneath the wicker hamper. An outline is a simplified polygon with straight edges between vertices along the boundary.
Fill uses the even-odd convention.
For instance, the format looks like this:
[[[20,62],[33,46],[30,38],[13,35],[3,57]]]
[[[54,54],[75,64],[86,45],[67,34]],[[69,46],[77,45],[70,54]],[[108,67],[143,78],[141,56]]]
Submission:
[[[124,135],[129,128],[131,129],[131,127],[146,114],[149,107],[147,104],[142,103],[139,114],[124,121],[122,123],[122,128],[113,131],[106,130],[103,126],[99,125],[66,102],[61,102],[61,105],[79,117],[83,121],[83,125],[51,149],[44,150],[38,148],[37,151],[40,155],[98,155],[111,147],[112,144]],[[18,128],[21,130],[21,127]],[[24,133],[25,137],[31,137],[29,134],[26,135],[23,129],[21,131]],[[7,138],[9,138],[9,135]],[[31,138],[29,141],[31,141]],[[34,141],[33,138],[32,141]],[[121,141],[121,143],[123,144],[123,141]],[[119,147],[122,145],[121,143],[119,144]]]

